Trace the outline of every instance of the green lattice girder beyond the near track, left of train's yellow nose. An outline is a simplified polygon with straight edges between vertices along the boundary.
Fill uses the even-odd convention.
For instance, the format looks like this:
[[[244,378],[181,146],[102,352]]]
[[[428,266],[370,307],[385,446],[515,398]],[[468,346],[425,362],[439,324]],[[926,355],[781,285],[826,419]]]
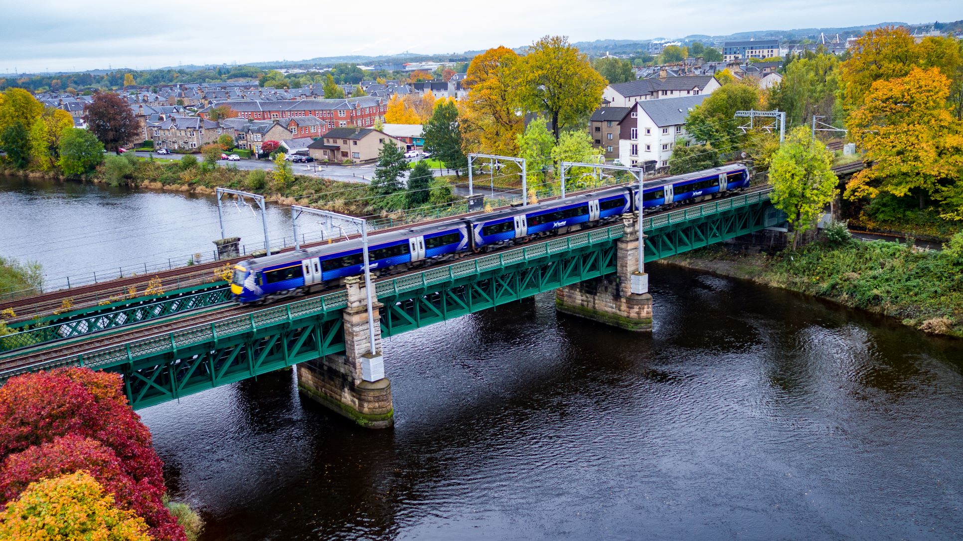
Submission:
[[[156,320],[195,308],[221,304],[227,302],[229,298],[230,289],[221,287],[195,295],[176,296],[113,312],[91,314],[66,322],[44,324],[36,328],[0,336],[0,352],[64,340],[65,338],[82,336],[123,325]]]

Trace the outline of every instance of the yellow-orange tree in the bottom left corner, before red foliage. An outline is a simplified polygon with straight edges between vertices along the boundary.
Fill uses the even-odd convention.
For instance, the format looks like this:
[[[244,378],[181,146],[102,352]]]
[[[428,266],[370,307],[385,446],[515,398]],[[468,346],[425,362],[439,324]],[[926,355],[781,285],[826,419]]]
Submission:
[[[150,541],[143,519],[118,508],[86,472],[32,483],[0,518],[5,541]]]

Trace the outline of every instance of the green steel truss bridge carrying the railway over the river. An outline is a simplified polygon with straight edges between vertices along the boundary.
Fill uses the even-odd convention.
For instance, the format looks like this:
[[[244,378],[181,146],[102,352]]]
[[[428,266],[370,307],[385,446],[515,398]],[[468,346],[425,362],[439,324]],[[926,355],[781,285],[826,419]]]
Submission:
[[[643,219],[644,260],[656,261],[785,221],[785,215],[772,207],[770,191]],[[611,274],[616,270],[615,243],[624,233],[621,223],[602,226],[378,280],[377,299],[384,305],[381,336]],[[31,345],[0,349],[0,381],[70,366],[118,372],[131,404],[142,408],[345,351],[345,291],[260,309],[225,303],[224,298],[204,292],[169,301],[195,303],[189,312],[160,301],[123,314],[65,322],[63,328],[42,331],[41,340]]]

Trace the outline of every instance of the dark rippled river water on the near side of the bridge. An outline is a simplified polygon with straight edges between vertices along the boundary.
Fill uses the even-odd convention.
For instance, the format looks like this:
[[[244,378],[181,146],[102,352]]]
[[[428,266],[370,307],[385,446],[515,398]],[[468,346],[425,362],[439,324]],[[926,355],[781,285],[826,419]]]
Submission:
[[[93,191],[121,206],[168,195]],[[0,239],[57,234],[5,223]],[[293,371],[140,413],[204,540],[963,534],[963,342],[648,270],[650,335],[557,315],[541,295],[387,339],[393,429],[299,397]]]

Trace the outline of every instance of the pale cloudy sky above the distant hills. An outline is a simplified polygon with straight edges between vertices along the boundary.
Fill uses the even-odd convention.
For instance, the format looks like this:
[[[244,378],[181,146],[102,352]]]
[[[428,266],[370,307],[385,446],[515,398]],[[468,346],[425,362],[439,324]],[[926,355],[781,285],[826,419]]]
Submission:
[[[460,53],[572,41],[963,18],[959,0],[0,0],[0,73]]]

